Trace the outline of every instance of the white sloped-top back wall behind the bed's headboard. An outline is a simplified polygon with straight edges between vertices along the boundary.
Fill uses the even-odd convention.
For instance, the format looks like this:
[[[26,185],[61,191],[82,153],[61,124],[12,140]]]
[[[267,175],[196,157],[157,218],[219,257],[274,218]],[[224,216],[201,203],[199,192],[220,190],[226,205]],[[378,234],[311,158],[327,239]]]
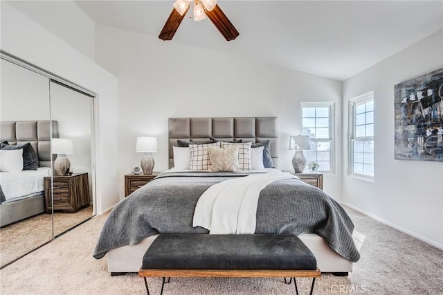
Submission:
[[[300,129],[301,101],[333,101],[341,118],[341,82],[255,60],[163,42],[108,26],[96,26],[96,61],[118,77],[119,180],[140,166],[137,136],[157,136],[154,170],[168,169],[168,118],[277,116],[279,165],[293,170],[289,135]],[[337,150],[341,150],[338,133]],[[341,163],[341,152],[338,152]],[[341,198],[341,170],[325,177],[325,190]]]

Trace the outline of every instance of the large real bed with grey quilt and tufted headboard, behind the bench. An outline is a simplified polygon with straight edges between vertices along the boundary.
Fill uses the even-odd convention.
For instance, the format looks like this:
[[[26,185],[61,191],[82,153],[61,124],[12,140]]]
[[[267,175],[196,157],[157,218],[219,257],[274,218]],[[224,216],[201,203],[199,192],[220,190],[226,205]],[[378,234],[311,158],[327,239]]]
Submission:
[[[170,167],[174,166],[174,146],[179,141],[269,141],[269,157],[275,166],[278,163],[275,117],[170,118],[168,140]],[[280,172],[273,168],[258,172],[266,174],[272,171]],[[227,183],[225,180],[242,179],[249,175],[249,172],[196,172],[177,167],[161,173],[114,207],[100,233],[94,258],[100,259],[108,253],[108,271],[111,274],[137,272],[143,254],[158,234],[208,233],[208,229],[202,226],[192,226],[196,204],[208,188]],[[314,205],[307,205],[309,202]],[[316,256],[320,271],[347,274],[352,271],[353,262],[359,260],[352,240],[352,221],[343,208],[322,190],[298,179],[280,179],[261,191],[256,206],[255,233],[299,235]],[[306,206],[315,209],[309,211]],[[287,207],[296,212],[287,212]],[[291,220],[291,214],[304,216],[298,220],[301,227],[300,222]],[[305,222],[313,215],[321,215],[320,220]]]

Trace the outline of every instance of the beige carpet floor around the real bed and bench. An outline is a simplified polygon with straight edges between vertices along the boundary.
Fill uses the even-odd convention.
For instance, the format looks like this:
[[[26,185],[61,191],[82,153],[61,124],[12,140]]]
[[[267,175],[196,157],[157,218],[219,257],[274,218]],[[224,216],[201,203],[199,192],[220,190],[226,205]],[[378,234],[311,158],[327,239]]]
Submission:
[[[360,233],[361,260],[349,277],[324,274],[314,294],[443,294],[443,251],[349,208]],[[0,270],[6,294],[145,294],[136,274],[111,277],[106,257],[92,258],[106,216],[94,217]],[[279,278],[172,278],[164,294],[295,294]],[[161,278],[148,278],[159,294]],[[310,279],[298,279],[309,294]]]

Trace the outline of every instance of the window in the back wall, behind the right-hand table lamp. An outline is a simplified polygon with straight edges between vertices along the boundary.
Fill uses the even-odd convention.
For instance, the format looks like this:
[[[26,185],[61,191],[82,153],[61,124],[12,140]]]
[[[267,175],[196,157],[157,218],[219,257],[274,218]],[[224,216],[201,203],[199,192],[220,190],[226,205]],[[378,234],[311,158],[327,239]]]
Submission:
[[[302,134],[311,138],[306,162],[317,162],[319,172],[334,173],[334,102],[302,102],[301,106]]]

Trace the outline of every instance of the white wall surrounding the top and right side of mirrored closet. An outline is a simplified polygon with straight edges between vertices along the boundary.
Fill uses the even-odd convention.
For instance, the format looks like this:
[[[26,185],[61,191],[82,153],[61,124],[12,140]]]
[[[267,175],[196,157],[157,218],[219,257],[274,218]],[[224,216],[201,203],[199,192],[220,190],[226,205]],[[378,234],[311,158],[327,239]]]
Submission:
[[[118,202],[118,81],[100,66],[48,32],[5,1],[1,1],[0,48],[42,69],[98,93],[96,99],[96,210]]]

